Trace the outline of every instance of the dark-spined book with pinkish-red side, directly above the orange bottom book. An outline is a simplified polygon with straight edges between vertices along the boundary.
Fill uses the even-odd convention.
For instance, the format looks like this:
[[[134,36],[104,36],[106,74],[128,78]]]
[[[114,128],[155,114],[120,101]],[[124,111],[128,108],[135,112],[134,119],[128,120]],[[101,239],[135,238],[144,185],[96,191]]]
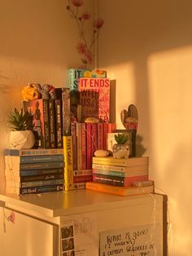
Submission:
[[[134,177],[120,177],[120,176],[111,176],[104,174],[93,174],[93,181],[97,183],[105,183],[114,186],[120,187],[129,187],[132,186],[133,183],[138,181],[147,181],[148,175],[143,176],[134,176]]]

